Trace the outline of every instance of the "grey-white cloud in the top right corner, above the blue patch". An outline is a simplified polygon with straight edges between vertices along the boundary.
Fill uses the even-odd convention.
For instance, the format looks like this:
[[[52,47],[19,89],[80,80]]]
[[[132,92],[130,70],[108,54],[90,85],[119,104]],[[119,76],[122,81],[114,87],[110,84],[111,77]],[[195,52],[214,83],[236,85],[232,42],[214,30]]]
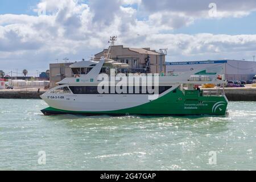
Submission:
[[[163,19],[174,19],[172,28],[180,28],[191,24],[196,19],[212,18],[240,18],[256,11],[255,0],[142,0],[141,11],[147,12],[149,16],[159,16],[162,24],[170,26],[170,22]],[[180,21],[179,21],[180,19]]]

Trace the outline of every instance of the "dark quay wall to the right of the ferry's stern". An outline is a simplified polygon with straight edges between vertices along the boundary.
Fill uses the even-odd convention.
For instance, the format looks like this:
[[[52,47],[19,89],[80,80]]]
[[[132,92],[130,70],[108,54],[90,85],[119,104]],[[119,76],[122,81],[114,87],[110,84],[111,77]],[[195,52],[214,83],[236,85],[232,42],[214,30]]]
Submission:
[[[216,89],[203,89],[204,93],[216,93]],[[222,93],[222,89],[219,91]],[[229,101],[256,101],[256,88],[225,88]]]

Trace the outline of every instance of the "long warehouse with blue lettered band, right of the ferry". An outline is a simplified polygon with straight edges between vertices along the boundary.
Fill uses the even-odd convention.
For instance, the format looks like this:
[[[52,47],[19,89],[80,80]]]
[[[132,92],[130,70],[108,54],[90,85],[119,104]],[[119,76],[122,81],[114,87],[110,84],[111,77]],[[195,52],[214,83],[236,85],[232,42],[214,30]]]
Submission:
[[[225,77],[228,81],[233,80],[252,80],[256,74],[255,61],[241,60],[207,60],[189,62],[166,63],[167,73],[184,73],[192,69],[210,67],[214,64],[225,64]]]

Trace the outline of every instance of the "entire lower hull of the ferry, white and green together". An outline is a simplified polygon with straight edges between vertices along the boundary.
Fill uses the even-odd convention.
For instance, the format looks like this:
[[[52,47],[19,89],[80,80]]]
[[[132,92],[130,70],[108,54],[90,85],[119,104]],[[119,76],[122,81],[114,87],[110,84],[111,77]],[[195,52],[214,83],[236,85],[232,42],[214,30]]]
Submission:
[[[42,96],[44,97],[44,96]],[[225,96],[203,96],[199,90],[181,92],[167,90],[155,100],[141,94],[106,94],[81,96],[49,96],[49,114],[141,114],[141,115],[225,115]]]

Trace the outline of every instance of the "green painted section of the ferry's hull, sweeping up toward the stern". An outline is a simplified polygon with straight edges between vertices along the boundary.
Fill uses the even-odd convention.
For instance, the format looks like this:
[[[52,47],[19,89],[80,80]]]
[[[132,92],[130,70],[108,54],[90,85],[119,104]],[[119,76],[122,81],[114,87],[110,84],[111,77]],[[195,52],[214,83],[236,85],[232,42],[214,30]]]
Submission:
[[[48,107],[42,112],[44,114],[143,114],[143,115],[193,115],[210,114],[225,115],[226,107],[225,97],[200,96],[198,90],[181,92],[170,92],[157,100],[143,105],[130,107],[127,109],[113,111],[67,111]]]

